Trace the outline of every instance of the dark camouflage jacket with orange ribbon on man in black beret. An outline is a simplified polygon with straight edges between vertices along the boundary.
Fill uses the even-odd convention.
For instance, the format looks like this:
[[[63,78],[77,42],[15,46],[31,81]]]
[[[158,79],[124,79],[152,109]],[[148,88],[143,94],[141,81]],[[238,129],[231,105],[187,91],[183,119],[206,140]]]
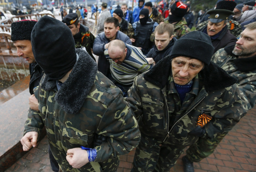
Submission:
[[[89,28],[82,25],[80,23],[80,31],[76,35],[74,35],[75,40],[75,48],[85,47],[88,54],[93,58],[93,54],[91,53],[91,48],[93,48],[93,43],[95,40],[95,36],[89,31]]]

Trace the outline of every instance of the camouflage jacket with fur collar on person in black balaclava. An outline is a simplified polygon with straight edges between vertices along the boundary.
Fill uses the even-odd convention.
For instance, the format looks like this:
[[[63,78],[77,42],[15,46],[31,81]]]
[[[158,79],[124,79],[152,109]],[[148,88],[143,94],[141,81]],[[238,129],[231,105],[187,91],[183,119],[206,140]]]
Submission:
[[[41,113],[30,110],[24,134],[40,134],[45,125],[51,151],[63,172],[116,171],[119,155],[140,141],[138,124],[121,90],[97,71],[96,62],[85,51],[77,49],[77,53],[79,59],[59,91],[56,81],[43,76],[35,92]],[[95,134],[106,136],[107,141],[94,146]],[[96,148],[97,157],[75,169],[66,161],[66,153],[80,146]]]

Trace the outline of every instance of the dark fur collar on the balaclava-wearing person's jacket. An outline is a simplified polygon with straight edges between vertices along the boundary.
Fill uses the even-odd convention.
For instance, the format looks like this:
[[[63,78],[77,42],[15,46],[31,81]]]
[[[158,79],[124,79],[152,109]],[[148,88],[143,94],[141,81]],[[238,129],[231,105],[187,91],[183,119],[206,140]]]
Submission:
[[[82,107],[94,83],[97,64],[90,55],[82,49],[76,49],[79,56],[69,77],[57,92],[55,99],[66,113],[75,114]],[[45,78],[41,82],[44,90],[56,89],[56,81]]]

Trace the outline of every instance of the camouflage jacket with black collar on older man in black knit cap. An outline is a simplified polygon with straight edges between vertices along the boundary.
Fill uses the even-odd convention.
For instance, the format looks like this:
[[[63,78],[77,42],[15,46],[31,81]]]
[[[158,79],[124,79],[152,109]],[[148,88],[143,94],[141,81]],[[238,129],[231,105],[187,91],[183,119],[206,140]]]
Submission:
[[[234,82],[233,77],[210,63],[195,77],[193,88],[181,105],[167,56],[150,71],[135,77],[126,101],[142,134],[162,142],[170,137],[170,144],[189,146],[199,137],[192,132],[200,115],[212,117],[203,126],[206,133],[200,136],[210,139],[231,130],[245,115],[243,97]]]

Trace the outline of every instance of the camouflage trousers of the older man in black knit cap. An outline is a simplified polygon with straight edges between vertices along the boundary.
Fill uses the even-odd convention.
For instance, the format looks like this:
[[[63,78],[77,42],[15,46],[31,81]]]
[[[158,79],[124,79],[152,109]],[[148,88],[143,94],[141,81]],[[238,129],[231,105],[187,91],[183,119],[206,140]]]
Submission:
[[[159,142],[142,134],[136,148],[131,172],[167,172],[174,166],[186,146],[171,145],[168,140]]]

